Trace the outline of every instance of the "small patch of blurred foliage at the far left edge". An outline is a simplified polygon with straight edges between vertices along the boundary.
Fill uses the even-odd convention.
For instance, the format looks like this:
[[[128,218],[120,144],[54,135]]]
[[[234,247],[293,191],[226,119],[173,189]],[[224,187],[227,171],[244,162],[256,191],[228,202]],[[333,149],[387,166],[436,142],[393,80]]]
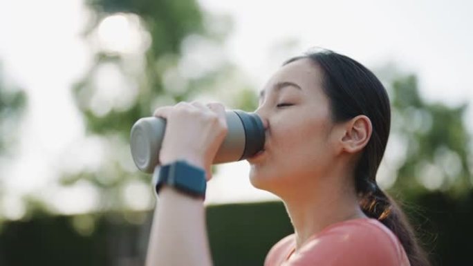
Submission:
[[[0,64],[0,154],[17,141],[17,125],[26,107],[26,94],[6,82]]]

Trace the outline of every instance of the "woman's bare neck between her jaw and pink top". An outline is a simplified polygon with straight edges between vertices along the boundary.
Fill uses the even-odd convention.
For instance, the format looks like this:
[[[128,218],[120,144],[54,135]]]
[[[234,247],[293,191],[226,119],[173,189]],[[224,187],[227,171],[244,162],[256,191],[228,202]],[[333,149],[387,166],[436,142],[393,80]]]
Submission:
[[[294,195],[281,197],[296,236],[296,250],[328,225],[355,218],[366,218],[360,208],[354,185],[340,175],[317,178],[317,184],[299,187]]]

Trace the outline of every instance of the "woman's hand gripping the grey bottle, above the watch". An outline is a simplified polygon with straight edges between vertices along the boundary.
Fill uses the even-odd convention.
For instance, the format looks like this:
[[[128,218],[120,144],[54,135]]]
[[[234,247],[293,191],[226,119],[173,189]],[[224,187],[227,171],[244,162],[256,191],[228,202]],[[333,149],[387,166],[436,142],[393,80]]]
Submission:
[[[160,164],[187,160],[205,169],[212,178],[212,162],[228,132],[222,104],[180,102],[154,111],[167,120],[165,137],[159,154]]]

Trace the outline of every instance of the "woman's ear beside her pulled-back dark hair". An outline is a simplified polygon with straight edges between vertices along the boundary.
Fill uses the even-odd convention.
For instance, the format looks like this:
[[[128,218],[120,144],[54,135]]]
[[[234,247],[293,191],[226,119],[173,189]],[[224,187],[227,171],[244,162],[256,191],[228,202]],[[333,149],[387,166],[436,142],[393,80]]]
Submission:
[[[348,153],[357,153],[367,146],[373,126],[366,115],[353,117],[345,124],[345,134],[342,137],[342,149]]]

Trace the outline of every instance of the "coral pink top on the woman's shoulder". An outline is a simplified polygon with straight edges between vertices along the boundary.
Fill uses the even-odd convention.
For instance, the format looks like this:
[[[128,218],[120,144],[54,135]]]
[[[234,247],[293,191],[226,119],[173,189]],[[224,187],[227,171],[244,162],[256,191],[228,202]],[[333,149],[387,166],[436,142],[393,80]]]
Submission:
[[[294,234],[279,240],[264,266],[410,266],[396,235],[373,218],[337,222],[295,245]]]

